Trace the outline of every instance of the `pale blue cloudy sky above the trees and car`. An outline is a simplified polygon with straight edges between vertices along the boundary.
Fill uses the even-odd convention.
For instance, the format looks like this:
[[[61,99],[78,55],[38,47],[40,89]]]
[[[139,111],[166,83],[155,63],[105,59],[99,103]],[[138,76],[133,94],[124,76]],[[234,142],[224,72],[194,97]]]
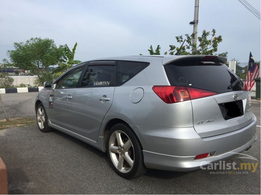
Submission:
[[[260,0],[247,0],[260,12]],[[57,46],[78,46],[74,59],[148,55],[150,45],[180,46],[175,36],[191,34],[194,0],[39,1],[0,0],[0,62],[14,42],[31,37],[53,39]],[[260,60],[260,20],[237,0],[199,0],[198,34],[222,35],[218,52],[228,60]]]

